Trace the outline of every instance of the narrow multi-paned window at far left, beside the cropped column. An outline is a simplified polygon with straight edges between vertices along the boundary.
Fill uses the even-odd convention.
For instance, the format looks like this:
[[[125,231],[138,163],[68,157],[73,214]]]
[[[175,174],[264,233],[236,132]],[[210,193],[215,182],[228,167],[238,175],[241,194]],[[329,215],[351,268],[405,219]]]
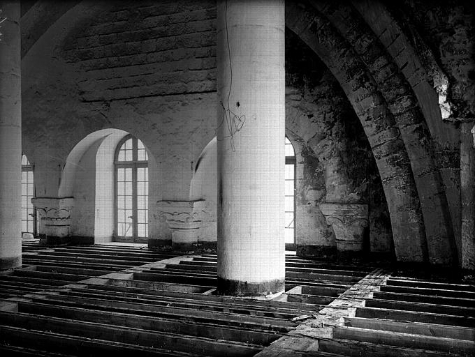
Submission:
[[[36,213],[31,199],[34,197],[33,166],[27,155],[22,155],[22,234],[35,234]]]

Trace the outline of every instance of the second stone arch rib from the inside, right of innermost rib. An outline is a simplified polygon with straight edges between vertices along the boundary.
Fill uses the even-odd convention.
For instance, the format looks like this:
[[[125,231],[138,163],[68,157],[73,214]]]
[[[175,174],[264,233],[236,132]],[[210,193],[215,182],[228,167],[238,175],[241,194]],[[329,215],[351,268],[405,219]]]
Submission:
[[[356,1],[354,5],[360,7],[360,2]],[[458,254],[455,248],[450,207],[446,195],[439,193],[444,192],[444,184],[450,186],[453,183],[450,180],[443,181],[442,179],[437,165],[434,140],[431,135],[432,131],[438,137],[439,131],[443,128],[441,126],[430,127],[431,116],[428,116],[426,121],[423,115],[423,113],[429,114],[428,110],[424,111],[423,109],[425,109],[424,104],[426,102],[427,105],[430,105],[430,101],[423,100],[424,104],[420,104],[419,99],[421,97],[416,96],[414,86],[405,76],[407,73],[404,72],[407,71],[398,70],[404,63],[406,63],[404,68],[407,66],[407,57],[400,56],[397,59],[396,56],[402,50],[407,51],[407,47],[410,47],[404,45],[407,38],[405,38],[404,33],[401,36],[403,40],[400,41],[393,41],[393,37],[386,33],[384,36],[378,37],[370,27],[370,23],[374,24],[374,22],[367,23],[360,15],[360,13],[367,14],[370,12],[365,11],[364,6],[363,8],[360,7],[359,13],[353,9],[353,6],[345,3],[335,3],[333,6],[322,6],[321,3],[315,3],[314,6],[342,34],[351,50],[357,56],[361,56],[367,72],[377,86],[377,91],[381,93],[397,128],[400,130],[400,137],[404,142],[410,160],[418,198],[421,201],[428,245],[428,259],[434,264],[455,263],[458,260]],[[388,13],[382,4],[377,3],[371,6],[377,7],[381,13],[384,13],[383,17],[388,17]],[[388,28],[388,26],[386,24],[383,28],[388,29],[388,32],[392,32],[393,36],[395,36],[394,33],[398,33],[397,36],[400,36],[402,31],[397,31],[392,26]],[[358,29],[358,38],[354,36],[355,28]],[[381,40],[387,47],[380,42]],[[413,57],[417,59],[417,56],[410,56],[410,58]],[[409,68],[411,67],[409,66]],[[414,76],[412,79],[415,80]],[[435,91],[431,90],[428,93],[436,94]],[[439,113],[437,121],[441,122],[439,121],[441,116],[438,104],[434,105],[434,111]],[[445,130],[445,132],[450,131]],[[445,146],[446,142],[443,145]]]

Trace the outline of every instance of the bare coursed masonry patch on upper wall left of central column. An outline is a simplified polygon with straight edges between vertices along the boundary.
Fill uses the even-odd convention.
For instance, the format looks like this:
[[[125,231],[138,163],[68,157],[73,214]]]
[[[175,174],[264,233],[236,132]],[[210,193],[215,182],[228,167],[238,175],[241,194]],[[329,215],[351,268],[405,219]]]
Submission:
[[[215,90],[214,1],[118,3],[64,44],[85,102]]]

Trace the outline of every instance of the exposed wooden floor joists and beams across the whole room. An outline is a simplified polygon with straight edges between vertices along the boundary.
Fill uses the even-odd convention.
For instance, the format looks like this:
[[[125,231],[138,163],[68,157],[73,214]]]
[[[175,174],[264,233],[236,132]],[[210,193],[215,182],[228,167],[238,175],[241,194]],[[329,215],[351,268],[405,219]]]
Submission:
[[[274,301],[217,296],[216,255],[23,243],[8,356],[474,356],[475,286],[286,256]],[[3,354],[3,356],[6,356]]]

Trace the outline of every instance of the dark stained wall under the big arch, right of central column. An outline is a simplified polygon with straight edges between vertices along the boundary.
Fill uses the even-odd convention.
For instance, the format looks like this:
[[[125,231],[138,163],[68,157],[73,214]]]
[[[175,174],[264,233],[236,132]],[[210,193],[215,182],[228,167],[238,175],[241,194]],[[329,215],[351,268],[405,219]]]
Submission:
[[[363,203],[370,204],[367,248],[389,252],[386,199],[363,128],[335,77],[291,31],[286,33],[286,86],[286,127],[303,166],[300,175],[297,171],[297,244],[335,246],[319,204]]]

